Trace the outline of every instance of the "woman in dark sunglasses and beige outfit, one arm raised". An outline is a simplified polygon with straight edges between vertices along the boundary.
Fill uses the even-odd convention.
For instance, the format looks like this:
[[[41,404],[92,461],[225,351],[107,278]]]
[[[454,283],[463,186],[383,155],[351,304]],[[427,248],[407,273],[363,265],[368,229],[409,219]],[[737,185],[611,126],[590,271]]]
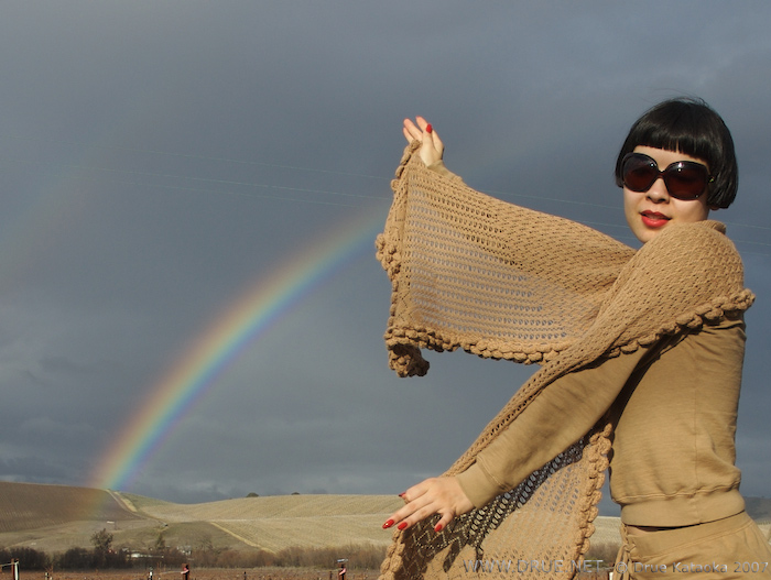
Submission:
[[[500,305],[510,315],[520,313],[521,318],[509,318],[512,324],[535,329],[526,340],[513,335],[501,339],[506,331],[492,328],[495,322],[478,324],[467,332],[468,325],[450,319],[486,315],[474,313],[469,318],[463,307],[450,306],[449,311],[438,315],[432,313],[441,306],[424,308],[428,313],[425,315],[415,307],[427,304],[423,296],[413,298],[432,284],[420,282],[422,270],[438,263],[446,267],[444,264],[453,260],[432,258],[444,250],[431,248],[445,247],[435,242],[425,245],[426,258],[417,263],[412,255],[421,250],[413,240],[420,238],[422,223],[428,221],[425,216],[449,215],[442,209],[444,201],[434,189],[461,187],[442,163],[444,145],[436,132],[424,119],[419,117],[416,121],[405,120],[404,136],[436,180],[445,185],[434,183],[432,177],[413,176],[422,175],[419,167],[409,169],[408,177],[402,176],[397,184],[406,200],[399,209],[400,217],[390,220],[411,228],[410,233],[392,229],[389,234],[387,229],[380,240],[381,260],[390,267],[395,288],[387,333],[392,366],[398,371],[399,364],[414,369],[412,359],[420,358],[415,347],[461,347],[477,354],[513,360],[526,355],[524,362],[532,360],[544,366],[445,477],[428,479],[404,492],[404,506],[383,527],[394,526],[406,534],[419,524],[424,528],[425,518],[438,514],[431,524],[435,533],[442,533],[461,514],[485,510],[493,500],[504,502],[500,497],[520,489],[529,478],[536,482],[531,485],[535,491],[545,489],[545,496],[554,496],[556,492],[542,480],[563,477],[555,458],[568,449],[577,449],[576,457],[590,455],[585,451],[590,437],[587,434],[594,434],[595,448],[605,455],[607,446],[602,447],[600,439],[609,436],[612,426],[610,489],[613,501],[621,506],[623,539],[618,571],[628,571],[631,578],[660,578],[662,571],[689,571],[699,578],[747,578],[756,572],[759,577],[771,576],[769,563],[771,563],[771,550],[743,511],[740,473],[734,464],[745,346],[742,314],[752,296],[743,288],[741,262],[724,234],[725,228],[708,221],[710,210],[731,204],[738,184],[734,143],[720,117],[703,101],[674,99],[650,109],[632,125],[618,155],[616,182],[623,189],[627,222],[644,244],[639,252],[621,249],[599,239],[596,232],[558,218],[536,212],[523,217],[523,210],[503,209],[478,198],[476,193],[468,194],[469,204],[479,206],[467,211],[470,217],[464,214],[433,226],[449,232],[448,240],[463,239],[458,247],[477,247],[474,251],[455,251],[457,255],[486,255],[478,254],[481,247],[482,252],[490,251],[482,259],[488,264],[482,269],[497,267],[492,265],[496,262],[512,269],[508,280],[526,288],[514,291],[513,298],[501,298]],[[413,160],[406,165],[415,167],[416,163]],[[432,201],[438,206],[424,209],[422,198],[439,199]],[[453,200],[447,207],[460,204]],[[509,212],[511,218],[501,218]],[[461,221],[488,223],[475,225],[469,233],[466,226],[454,223]],[[488,231],[492,233],[488,236]],[[556,243],[561,250],[550,253],[543,248],[554,245],[553,237],[560,240]],[[508,254],[498,250],[502,247],[507,247]],[[401,263],[400,258],[394,267],[388,261],[389,252],[409,255],[412,262]],[[571,255],[565,256],[565,252]],[[404,280],[405,270],[412,276],[409,281]],[[433,280],[454,281],[458,276],[442,278],[434,274]],[[445,292],[444,298],[436,297],[436,304],[447,295],[450,303],[471,304],[459,298],[464,292],[460,287]],[[500,295],[496,292],[490,291],[493,296]],[[536,295],[537,306],[529,303],[519,310],[510,306]],[[400,306],[410,300],[409,307]],[[477,302],[491,300],[495,298]],[[531,316],[534,310],[554,308],[555,302],[575,303],[575,313],[579,314]],[[574,321],[565,319],[575,316],[585,319],[571,327]],[[482,326],[492,328],[491,335],[498,339],[480,338]],[[539,335],[545,327],[561,330]],[[490,340],[493,347],[488,344]],[[421,372],[424,369],[414,374]],[[580,460],[586,462],[576,462]],[[553,467],[544,470],[550,462]],[[594,471],[589,470],[594,474],[585,478],[593,482],[590,485],[569,484],[584,486],[582,493],[593,499],[580,507],[567,508],[585,514],[571,524],[584,533],[575,552],[563,548],[568,559],[588,548],[588,523],[596,514],[597,488],[601,485],[597,472],[604,467],[602,461],[595,461]],[[539,470],[542,475],[533,479]],[[525,495],[524,501],[517,502],[518,508],[533,490]],[[543,513],[541,510],[533,519],[543,521]],[[501,523],[482,535],[493,536],[504,527],[506,518],[519,517],[514,511],[511,514],[501,516]],[[408,576],[415,576],[414,570],[421,571],[419,576],[430,573],[426,570],[431,566],[423,561],[426,557],[412,555],[421,550],[410,540],[399,541],[406,543],[408,548],[392,549],[384,576],[399,577],[406,569],[413,570]],[[485,544],[481,539],[475,541],[479,554]],[[550,548],[544,554],[554,551]],[[526,554],[520,556],[530,560]],[[420,563],[410,563],[411,559]],[[748,571],[741,562],[754,566]],[[545,563],[540,571],[545,570]],[[691,565],[693,568],[686,568]],[[450,573],[450,568],[445,557],[444,572]],[[575,572],[566,570],[563,574],[553,562],[549,568],[555,577]]]

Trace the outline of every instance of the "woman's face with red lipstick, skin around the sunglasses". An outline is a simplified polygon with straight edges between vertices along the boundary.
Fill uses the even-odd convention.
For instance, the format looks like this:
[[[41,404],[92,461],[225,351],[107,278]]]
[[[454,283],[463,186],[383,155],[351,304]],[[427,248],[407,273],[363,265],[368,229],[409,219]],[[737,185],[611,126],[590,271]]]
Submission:
[[[637,146],[634,152],[652,157],[660,169],[669,167],[677,161],[695,161],[706,165],[703,160],[676,151]],[[645,243],[670,223],[688,223],[707,219],[709,207],[707,206],[706,193],[696,199],[685,200],[671,197],[664,180],[659,177],[648,191],[632,191],[625,187],[623,212],[632,233],[638,240]]]

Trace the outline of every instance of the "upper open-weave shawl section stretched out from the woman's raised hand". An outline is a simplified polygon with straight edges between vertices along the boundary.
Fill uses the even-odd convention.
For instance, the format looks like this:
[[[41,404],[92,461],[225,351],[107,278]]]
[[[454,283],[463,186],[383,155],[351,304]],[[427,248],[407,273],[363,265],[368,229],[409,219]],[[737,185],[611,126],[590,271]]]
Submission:
[[[525,363],[567,348],[597,316],[598,288],[612,285],[633,250],[579,223],[439,179],[410,153],[380,239],[383,264],[400,285],[389,346],[403,343],[408,329],[415,336],[431,329],[421,347],[461,347]],[[398,248],[402,253],[393,255]],[[587,260],[594,267],[584,267]]]

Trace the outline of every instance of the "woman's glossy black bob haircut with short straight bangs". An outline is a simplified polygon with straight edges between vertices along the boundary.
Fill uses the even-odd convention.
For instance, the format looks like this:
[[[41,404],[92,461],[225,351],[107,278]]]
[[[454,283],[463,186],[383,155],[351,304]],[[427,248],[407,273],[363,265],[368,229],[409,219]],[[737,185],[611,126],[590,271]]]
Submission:
[[[621,162],[642,145],[704,160],[714,180],[707,186],[707,205],[727,208],[736,198],[739,168],[734,139],[719,114],[701,99],[676,98],[645,111],[629,130],[616,160],[616,185],[623,187]]]

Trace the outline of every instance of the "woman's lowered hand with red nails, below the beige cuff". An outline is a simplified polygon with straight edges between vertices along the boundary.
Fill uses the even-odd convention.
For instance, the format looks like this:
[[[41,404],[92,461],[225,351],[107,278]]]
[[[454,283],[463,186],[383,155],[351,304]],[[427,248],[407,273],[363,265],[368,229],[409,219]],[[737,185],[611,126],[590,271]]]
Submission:
[[[404,507],[394,512],[386,521],[383,528],[395,525],[398,529],[405,529],[421,519],[439,514],[442,517],[434,529],[441,532],[454,517],[474,508],[474,504],[466,497],[455,478],[427,479],[410,488],[401,497],[404,500]]]

